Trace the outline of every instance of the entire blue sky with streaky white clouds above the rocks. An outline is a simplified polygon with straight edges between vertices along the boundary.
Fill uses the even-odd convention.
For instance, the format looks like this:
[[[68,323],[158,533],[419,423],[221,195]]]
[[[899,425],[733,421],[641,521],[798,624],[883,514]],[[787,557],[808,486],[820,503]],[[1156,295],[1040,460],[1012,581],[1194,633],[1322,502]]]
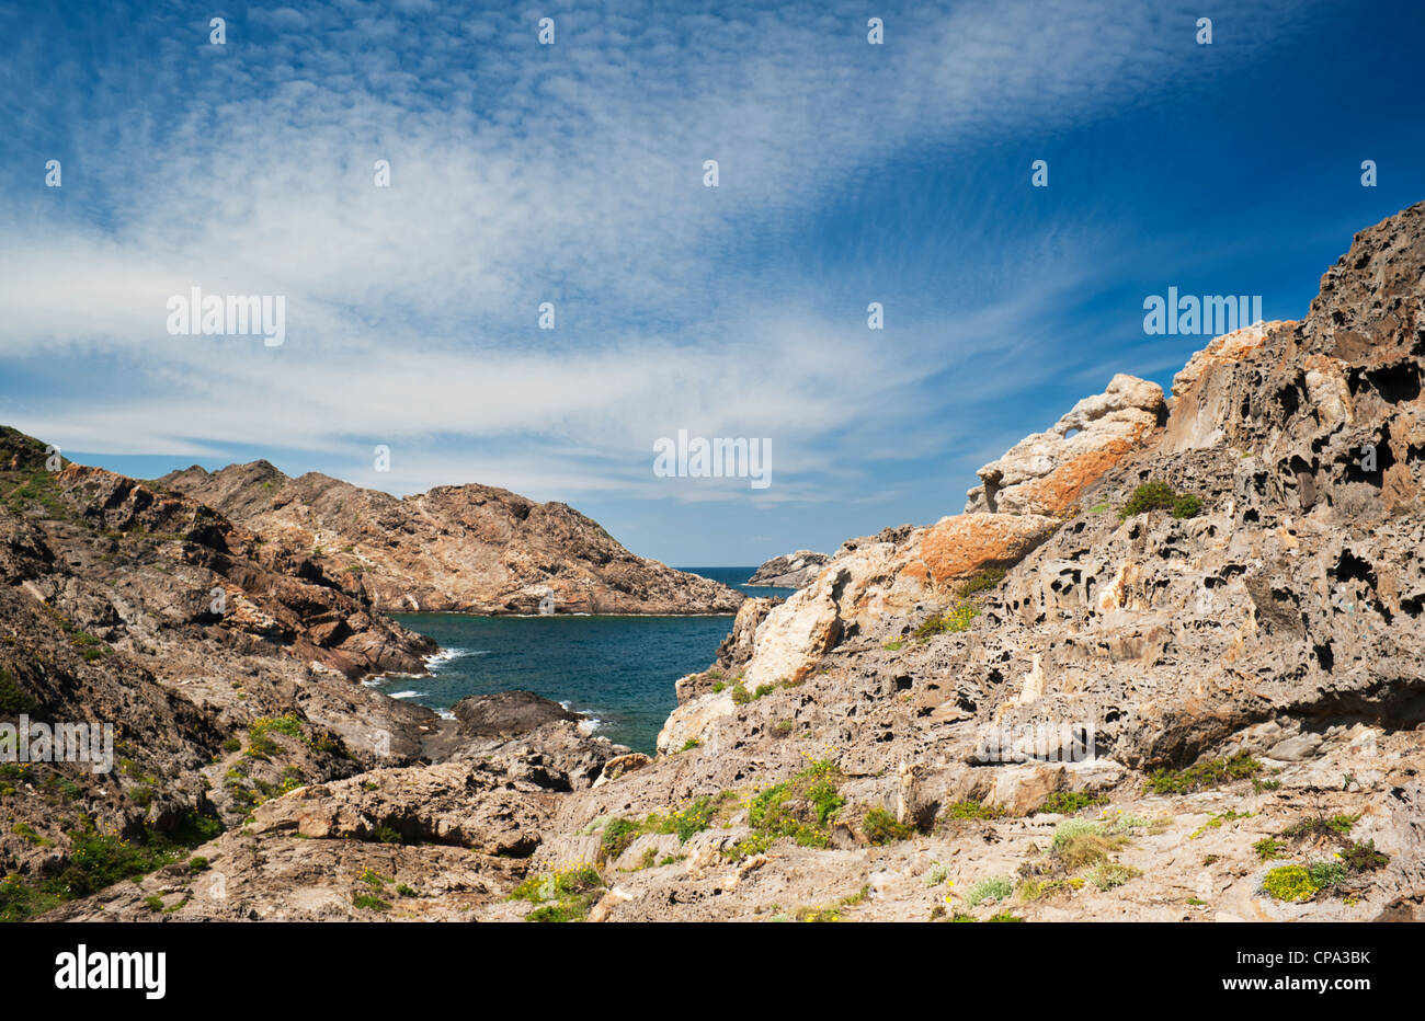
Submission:
[[[1170,383],[1207,337],[1147,295],[1300,318],[1425,198],[1425,10],[1243,6],[0,3],[0,422],[504,486],[680,565],[935,521],[1116,372]],[[284,295],[286,342],[170,336],[194,286]],[[680,429],[771,439],[771,486],[654,476]]]

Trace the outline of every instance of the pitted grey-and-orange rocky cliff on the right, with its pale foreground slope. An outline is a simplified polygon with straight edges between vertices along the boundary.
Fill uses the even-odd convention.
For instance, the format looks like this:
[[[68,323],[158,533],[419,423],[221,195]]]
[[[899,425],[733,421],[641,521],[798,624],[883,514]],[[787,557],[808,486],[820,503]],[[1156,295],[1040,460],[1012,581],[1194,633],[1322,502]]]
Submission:
[[[221,897],[54,917],[1419,917],[1422,356],[1418,205],[1170,399],[1114,377],[965,513],[747,601],[657,759],[484,706],[534,729],[262,803],[200,849]]]

